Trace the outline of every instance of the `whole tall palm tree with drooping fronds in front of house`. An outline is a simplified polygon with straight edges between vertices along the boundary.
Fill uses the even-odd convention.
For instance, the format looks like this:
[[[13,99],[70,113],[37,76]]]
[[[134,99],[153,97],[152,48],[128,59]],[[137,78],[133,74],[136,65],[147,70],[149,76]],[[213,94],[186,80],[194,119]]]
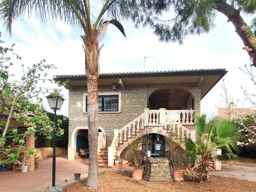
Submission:
[[[117,5],[118,4],[118,5]],[[0,4],[0,17],[11,33],[12,22],[24,14],[36,14],[42,20],[62,19],[67,24],[76,25],[83,30],[83,48],[85,50],[85,72],[88,89],[88,142],[89,173],[87,185],[98,186],[98,78],[99,78],[99,40],[106,32],[107,26],[113,24],[126,36],[124,28],[116,19],[104,21],[103,16],[110,7],[119,7],[126,11],[129,1],[104,0],[103,7],[95,18],[91,18],[89,0],[4,0]],[[116,11],[116,10],[115,10]],[[115,12],[116,14],[116,12]],[[126,12],[129,14],[129,12]],[[94,19],[94,22],[92,20]]]

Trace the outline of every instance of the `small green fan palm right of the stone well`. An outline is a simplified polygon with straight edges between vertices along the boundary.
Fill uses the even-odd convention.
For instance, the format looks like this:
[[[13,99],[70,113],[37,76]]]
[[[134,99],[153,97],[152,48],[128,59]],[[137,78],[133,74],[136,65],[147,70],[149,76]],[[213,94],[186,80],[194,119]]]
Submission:
[[[193,181],[208,181],[208,171],[213,169],[213,160],[225,162],[236,157],[232,150],[237,152],[238,128],[234,122],[214,117],[209,122],[206,116],[197,116],[195,126],[199,139],[186,139],[186,152],[194,163],[191,170],[185,175]],[[225,153],[214,157],[213,151],[221,148]]]

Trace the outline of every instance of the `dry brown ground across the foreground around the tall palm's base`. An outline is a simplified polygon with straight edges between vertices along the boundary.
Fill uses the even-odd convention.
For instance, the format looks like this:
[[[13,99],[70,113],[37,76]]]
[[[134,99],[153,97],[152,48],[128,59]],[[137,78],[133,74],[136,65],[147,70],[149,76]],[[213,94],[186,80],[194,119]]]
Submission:
[[[86,186],[86,179],[63,188],[63,192],[75,191],[255,191],[255,182],[211,176],[209,182],[202,183],[151,183],[145,180],[132,180],[130,171],[103,171],[99,173],[99,188],[96,190]]]

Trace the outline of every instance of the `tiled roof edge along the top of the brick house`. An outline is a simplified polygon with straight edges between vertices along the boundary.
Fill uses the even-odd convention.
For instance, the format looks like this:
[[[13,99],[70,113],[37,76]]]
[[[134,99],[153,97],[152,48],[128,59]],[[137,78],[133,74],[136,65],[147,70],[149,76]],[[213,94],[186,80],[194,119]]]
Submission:
[[[132,78],[132,77],[150,77],[150,76],[188,76],[188,75],[224,75],[225,69],[206,69],[206,70],[172,70],[172,71],[140,71],[140,72],[121,72],[121,73],[101,73],[99,78]],[[85,80],[86,75],[55,75],[55,80]]]

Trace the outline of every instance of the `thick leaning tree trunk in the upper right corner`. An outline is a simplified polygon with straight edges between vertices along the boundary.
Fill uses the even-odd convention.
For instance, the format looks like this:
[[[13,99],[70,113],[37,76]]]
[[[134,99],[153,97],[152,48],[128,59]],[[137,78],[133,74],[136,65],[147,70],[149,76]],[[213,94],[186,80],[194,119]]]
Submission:
[[[240,11],[226,1],[217,1],[215,9],[224,14],[229,21],[232,22],[235,27],[235,32],[237,32],[245,45],[244,50],[246,50],[249,57],[252,58],[252,65],[256,67],[256,37],[240,16]]]

